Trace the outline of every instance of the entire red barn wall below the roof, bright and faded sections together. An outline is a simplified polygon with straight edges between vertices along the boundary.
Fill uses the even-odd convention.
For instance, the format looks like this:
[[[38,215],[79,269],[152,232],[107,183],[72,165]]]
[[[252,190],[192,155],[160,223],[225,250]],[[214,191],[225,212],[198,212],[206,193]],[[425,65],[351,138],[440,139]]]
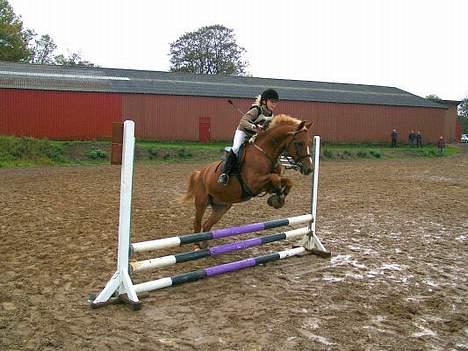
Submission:
[[[254,99],[232,99],[246,111]],[[133,119],[138,138],[199,140],[200,118],[212,140],[232,139],[240,113],[225,98],[0,89],[0,134],[50,139],[110,138],[112,122]],[[448,110],[421,107],[281,101],[275,114],[314,122],[325,142],[388,142],[396,128],[406,142],[411,129],[425,142],[451,142]]]

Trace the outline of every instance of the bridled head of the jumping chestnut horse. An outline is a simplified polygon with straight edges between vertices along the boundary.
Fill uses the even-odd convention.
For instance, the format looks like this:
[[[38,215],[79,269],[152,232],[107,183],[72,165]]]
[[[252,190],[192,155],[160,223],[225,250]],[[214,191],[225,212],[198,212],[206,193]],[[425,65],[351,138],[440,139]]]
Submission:
[[[289,132],[291,141],[286,146],[286,151],[297,163],[303,175],[312,173],[312,157],[310,155],[310,127],[312,122],[302,121],[297,127]]]

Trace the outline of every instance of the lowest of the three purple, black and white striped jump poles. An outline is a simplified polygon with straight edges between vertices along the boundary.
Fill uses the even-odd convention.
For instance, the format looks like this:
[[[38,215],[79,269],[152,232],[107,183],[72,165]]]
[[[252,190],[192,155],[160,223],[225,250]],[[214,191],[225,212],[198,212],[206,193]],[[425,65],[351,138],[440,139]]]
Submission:
[[[161,278],[149,282],[144,282],[134,285],[136,293],[148,292],[153,290],[159,290],[167,288],[173,285],[179,285],[189,282],[194,282],[200,279],[214,277],[215,275],[234,272],[248,267],[254,267],[262,263],[273,262],[297,256],[306,252],[303,247],[297,247],[294,249],[284,250],[280,252],[270,253],[264,256],[258,256],[253,258],[247,258],[245,260],[229,262],[217,266],[211,266],[208,268],[202,268],[196,271],[175,275],[172,277]]]

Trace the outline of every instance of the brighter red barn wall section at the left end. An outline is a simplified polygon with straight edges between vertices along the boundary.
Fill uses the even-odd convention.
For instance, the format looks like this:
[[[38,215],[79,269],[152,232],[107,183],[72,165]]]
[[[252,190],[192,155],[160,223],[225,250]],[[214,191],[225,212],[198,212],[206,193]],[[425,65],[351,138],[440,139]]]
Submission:
[[[118,94],[0,89],[0,135],[110,138],[121,100]]]

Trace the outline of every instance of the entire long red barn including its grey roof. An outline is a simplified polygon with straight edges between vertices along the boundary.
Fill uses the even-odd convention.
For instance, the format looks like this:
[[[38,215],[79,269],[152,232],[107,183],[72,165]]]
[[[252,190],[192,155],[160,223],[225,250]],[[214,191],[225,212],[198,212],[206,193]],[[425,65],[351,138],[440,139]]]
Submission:
[[[275,113],[314,122],[325,142],[455,140],[456,110],[394,87],[100,67],[0,62],[0,135],[77,140],[110,138],[112,122],[132,119],[140,139],[230,140],[266,88]]]

